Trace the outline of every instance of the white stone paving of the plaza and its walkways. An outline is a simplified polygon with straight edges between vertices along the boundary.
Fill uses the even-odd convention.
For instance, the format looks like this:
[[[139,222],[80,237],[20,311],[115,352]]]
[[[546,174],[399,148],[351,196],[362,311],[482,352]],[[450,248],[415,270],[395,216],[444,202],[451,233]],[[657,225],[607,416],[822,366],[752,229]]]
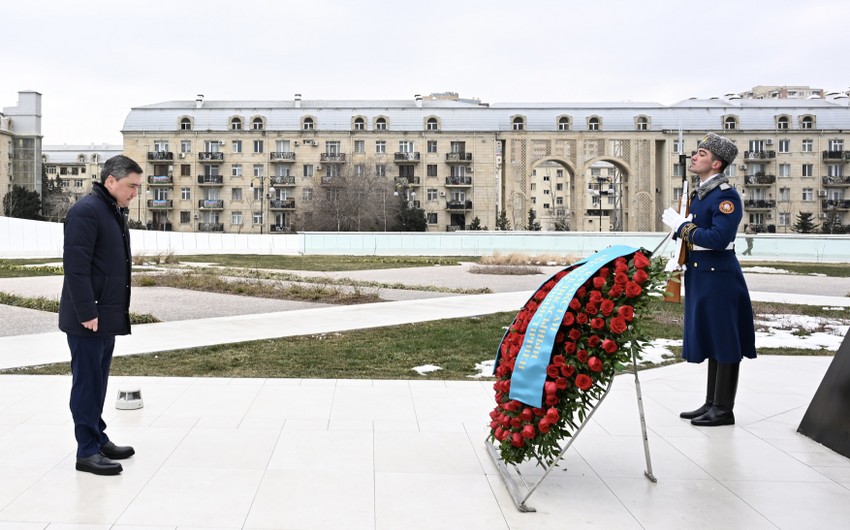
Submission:
[[[348,274],[464,281],[462,270],[434,269]],[[850,300],[842,279],[766,276],[748,275],[753,298]],[[511,311],[541,280],[490,278],[492,294],[431,293],[352,307],[272,304],[232,315],[187,309],[135,327],[117,348],[141,353]],[[50,281],[0,280],[0,290],[49,294]],[[165,307],[172,303],[196,305],[191,295],[143,293],[134,290],[134,299],[159,299],[163,312],[174,311]],[[224,300],[251,307],[238,298]],[[9,332],[15,318],[39,312],[4,311],[0,365],[67,360],[55,327]],[[641,372],[657,484],[643,476],[634,377],[618,376],[561,468],[529,499],[536,513],[516,510],[487,455],[489,382],[113,377],[108,432],[137,453],[122,462],[120,476],[98,477],[74,470],[70,377],[4,375],[0,529],[844,528],[850,459],[796,433],[830,362],[744,361],[738,424],[702,429],[678,412],[702,402],[704,366]],[[118,390],[133,386],[142,389],[144,408],[115,409]]]

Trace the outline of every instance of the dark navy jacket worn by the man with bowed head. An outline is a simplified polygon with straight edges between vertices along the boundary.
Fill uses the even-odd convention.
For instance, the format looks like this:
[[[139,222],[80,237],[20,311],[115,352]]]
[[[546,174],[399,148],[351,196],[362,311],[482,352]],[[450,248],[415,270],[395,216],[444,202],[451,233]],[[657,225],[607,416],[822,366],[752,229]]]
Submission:
[[[94,183],[65,218],[59,329],[72,335],[129,334],[131,260],[126,212]],[[97,333],[82,325],[95,317]]]

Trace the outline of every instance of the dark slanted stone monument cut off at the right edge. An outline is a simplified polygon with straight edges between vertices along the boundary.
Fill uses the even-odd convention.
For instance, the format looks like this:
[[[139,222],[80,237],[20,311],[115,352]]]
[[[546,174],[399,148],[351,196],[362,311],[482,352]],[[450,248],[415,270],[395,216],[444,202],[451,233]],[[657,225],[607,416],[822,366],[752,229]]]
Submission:
[[[841,342],[797,432],[850,458],[850,333]]]

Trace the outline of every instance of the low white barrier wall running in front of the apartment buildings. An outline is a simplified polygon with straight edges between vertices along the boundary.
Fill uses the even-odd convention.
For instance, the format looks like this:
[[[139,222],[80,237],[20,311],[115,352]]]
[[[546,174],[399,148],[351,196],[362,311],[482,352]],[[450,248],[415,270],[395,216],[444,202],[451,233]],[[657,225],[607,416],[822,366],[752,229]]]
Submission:
[[[62,256],[58,223],[0,217],[0,258]],[[611,245],[654,250],[660,232],[303,232],[223,234],[132,230],[134,254],[336,254],[383,256],[483,256],[495,252],[587,256]],[[744,235],[736,240],[742,261],[850,262],[849,235],[758,234],[752,256]],[[672,251],[673,245],[667,246]]]

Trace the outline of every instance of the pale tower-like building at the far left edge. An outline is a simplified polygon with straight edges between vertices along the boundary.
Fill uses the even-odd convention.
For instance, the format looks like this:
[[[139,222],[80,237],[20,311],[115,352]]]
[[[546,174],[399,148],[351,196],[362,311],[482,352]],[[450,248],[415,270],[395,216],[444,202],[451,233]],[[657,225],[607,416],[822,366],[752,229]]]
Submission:
[[[41,94],[18,92],[0,112],[0,197],[13,186],[41,193]]]

